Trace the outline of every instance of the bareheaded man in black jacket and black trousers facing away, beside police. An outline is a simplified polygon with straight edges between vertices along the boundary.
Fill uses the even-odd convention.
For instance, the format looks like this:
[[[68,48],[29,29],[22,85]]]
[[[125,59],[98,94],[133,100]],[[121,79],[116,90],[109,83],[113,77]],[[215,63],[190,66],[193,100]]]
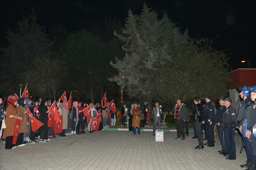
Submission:
[[[203,142],[203,124],[204,123],[204,108],[199,104],[199,97],[194,98],[195,107],[193,110],[193,122],[196,129],[196,135],[199,145],[195,149],[204,149]]]

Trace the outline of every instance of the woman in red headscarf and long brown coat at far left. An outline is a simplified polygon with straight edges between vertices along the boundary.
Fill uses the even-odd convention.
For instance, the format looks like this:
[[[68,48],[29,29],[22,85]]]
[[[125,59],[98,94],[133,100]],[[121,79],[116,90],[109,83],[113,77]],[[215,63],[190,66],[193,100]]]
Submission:
[[[12,144],[13,134],[14,134],[14,126],[16,118],[22,119],[17,116],[17,99],[14,95],[10,95],[8,97],[8,106],[6,108],[6,128],[4,129],[3,138],[5,138],[5,149],[15,148],[15,144]]]

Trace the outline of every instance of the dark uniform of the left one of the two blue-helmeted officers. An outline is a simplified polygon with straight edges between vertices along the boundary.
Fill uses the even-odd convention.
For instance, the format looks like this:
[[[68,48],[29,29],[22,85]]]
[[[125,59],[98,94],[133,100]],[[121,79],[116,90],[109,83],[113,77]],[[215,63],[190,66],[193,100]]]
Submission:
[[[237,122],[240,122],[242,119],[247,117],[248,107],[250,107],[251,104],[252,104],[252,101],[250,100],[249,97],[247,97],[245,100],[241,101],[241,104],[240,104],[239,110],[238,110]],[[247,127],[245,127],[245,128],[247,128]],[[243,137],[243,142],[245,140],[244,148],[246,151],[247,160],[256,161],[256,157],[254,156],[253,150],[252,150],[252,142],[250,140],[248,140],[247,137],[244,137],[244,136],[242,136],[242,137]]]

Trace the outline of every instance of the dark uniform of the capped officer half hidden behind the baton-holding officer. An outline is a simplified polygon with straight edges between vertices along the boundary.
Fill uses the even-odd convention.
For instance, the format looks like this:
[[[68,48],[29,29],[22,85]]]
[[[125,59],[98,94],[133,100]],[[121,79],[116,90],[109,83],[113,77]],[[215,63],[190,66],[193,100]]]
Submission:
[[[219,134],[219,138],[220,138],[220,143],[222,146],[222,150],[224,151],[224,147],[223,147],[223,125],[222,125],[222,115],[224,113],[226,109],[226,106],[222,105],[218,108],[216,115],[214,117],[214,121],[215,123],[220,123],[220,126],[217,125],[217,129],[218,129],[218,134]]]

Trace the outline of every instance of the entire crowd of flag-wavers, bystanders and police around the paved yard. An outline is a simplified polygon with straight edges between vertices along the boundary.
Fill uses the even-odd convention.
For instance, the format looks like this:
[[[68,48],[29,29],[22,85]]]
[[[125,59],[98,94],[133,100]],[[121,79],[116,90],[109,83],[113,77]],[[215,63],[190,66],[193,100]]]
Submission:
[[[198,139],[198,146],[195,149],[204,149],[204,146],[214,147],[215,134],[214,129],[217,129],[222,149],[218,151],[227,160],[236,159],[236,145],[235,145],[235,130],[239,129],[243,135],[244,148],[247,155],[247,162],[241,165],[243,168],[249,170],[256,169],[256,138],[253,137],[253,126],[256,124],[256,86],[244,85],[241,89],[240,96],[243,99],[241,101],[238,113],[236,109],[232,107],[232,100],[230,98],[219,98],[220,107],[215,114],[215,107],[212,104],[211,97],[204,98],[205,103],[201,102],[201,98],[195,97],[193,109],[193,123],[194,123],[194,137]],[[111,127],[116,127],[117,114],[113,113],[109,102],[104,106],[104,101],[101,100],[101,104],[96,103],[81,103],[74,101],[71,111],[68,109],[67,101],[59,101],[56,103],[56,107],[60,115],[63,116],[62,133],[58,135],[60,137],[67,137],[66,135],[77,136],[78,134],[85,133],[85,125],[88,123],[88,132],[93,133],[95,130],[91,129],[92,119],[96,118],[96,113],[100,110],[100,126],[98,130],[108,128],[109,119],[111,118]],[[55,103],[55,102],[54,102]],[[185,107],[185,103],[181,102],[181,99],[177,99],[175,107],[172,109],[174,114],[177,137],[175,139],[185,140],[188,136],[189,121],[189,109]],[[30,100],[28,98],[16,99],[14,95],[8,96],[4,100],[0,98],[0,138],[2,137],[5,143],[5,149],[13,149],[16,146],[25,146],[26,144],[36,144],[38,142],[47,143],[51,139],[55,139],[54,125],[49,121],[50,107],[52,105],[51,100]],[[90,107],[89,117],[83,113],[84,108]],[[146,116],[148,103],[144,102],[143,106],[140,104],[132,104],[130,111],[126,105],[121,108],[121,120],[122,128],[124,128],[126,118],[129,119],[129,131],[136,134],[136,128],[138,128],[138,134],[140,134],[140,128],[144,128],[146,123]],[[28,109],[31,115],[43,123],[37,131],[33,131],[31,128],[31,119],[28,115]],[[161,129],[162,121],[162,108],[159,103],[156,102],[152,112],[154,127],[153,136],[156,133],[156,126]],[[15,128],[15,120],[20,119],[20,131],[17,138],[17,142],[13,142],[13,135]],[[87,120],[88,119],[88,120]],[[246,119],[246,125],[242,122]],[[5,124],[5,127],[2,126]],[[214,128],[215,126],[215,128]],[[246,126],[246,127],[245,127]],[[69,128],[70,131],[69,131]],[[205,131],[205,138],[203,139],[203,129]],[[38,138],[38,142],[36,141]],[[207,140],[204,143],[204,140]],[[15,143],[15,144],[14,144]]]

